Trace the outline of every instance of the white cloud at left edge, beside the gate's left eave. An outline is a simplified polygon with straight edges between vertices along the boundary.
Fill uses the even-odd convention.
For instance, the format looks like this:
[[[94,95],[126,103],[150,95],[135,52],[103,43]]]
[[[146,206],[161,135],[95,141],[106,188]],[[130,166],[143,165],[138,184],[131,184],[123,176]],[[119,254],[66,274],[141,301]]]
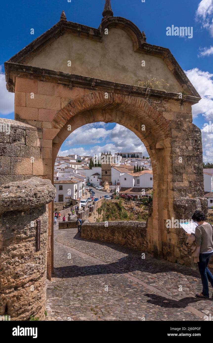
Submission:
[[[5,74],[0,66],[0,114],[6,115],[14,111],[14,93],[6,88]]]

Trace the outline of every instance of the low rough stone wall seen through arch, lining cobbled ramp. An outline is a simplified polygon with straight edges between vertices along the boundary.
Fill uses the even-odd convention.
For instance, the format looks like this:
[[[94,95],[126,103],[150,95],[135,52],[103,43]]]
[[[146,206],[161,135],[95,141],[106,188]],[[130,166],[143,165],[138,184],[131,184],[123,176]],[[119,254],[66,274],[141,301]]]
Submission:
[[[82,225],[82,238],[103,240],[148,252],[146,222],[105,222]]]

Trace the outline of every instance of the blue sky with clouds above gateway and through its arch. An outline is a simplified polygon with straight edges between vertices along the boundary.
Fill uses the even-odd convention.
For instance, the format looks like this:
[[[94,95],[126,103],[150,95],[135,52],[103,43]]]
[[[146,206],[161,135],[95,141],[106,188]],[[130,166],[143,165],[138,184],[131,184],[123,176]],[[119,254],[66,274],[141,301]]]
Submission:
[[[14,119],[14,95],[5,91],[4,61],[58,22],[62,10],[69,21],[98,27],[104,3],[105,0],[12,0],[1,3],[0,117]],[[147,43],[169,48],[186,71],[203,98],[198,105],[193,106],[193,122],[202,129],[204,161],[213,162],[213,132],[208,132],[210,121],[213,123],[213,0],[111,0],[111,6],[114,16],[131,20],[145,32]],[[171,25],[193,27],[193,38],[167,36],[166,27]],[[30,34],[31,28],[34,28],[34,35]],[[204,128],[204,123],[209,126]],[[91,129],[95,131],[91,132]],[[77,134],[82,135],[83,130],[85,132],[85,128],[80,128]],[[97,133],[100,130],[102,138]],[[128,139],[130,148],[135,144],[135,149],[142,149],[141,141],[125,130],[126,136],[131,136]],[[74,144],[74,132],[68,139],[72,145],[64,142],[61,150],[74,152],[77,149],[80,153],[89,154],[95,152],[95,149],[102,150],[102,147],[106,150],[111,147],[114,152],[116,149],[128,148],[127,140],[119,141],[116,136],[118,131],[125,134],[116,124],[89,125],[86,131],[94,134],[94,141],[85,140],[87,144],[83,146],[81,142]]]

